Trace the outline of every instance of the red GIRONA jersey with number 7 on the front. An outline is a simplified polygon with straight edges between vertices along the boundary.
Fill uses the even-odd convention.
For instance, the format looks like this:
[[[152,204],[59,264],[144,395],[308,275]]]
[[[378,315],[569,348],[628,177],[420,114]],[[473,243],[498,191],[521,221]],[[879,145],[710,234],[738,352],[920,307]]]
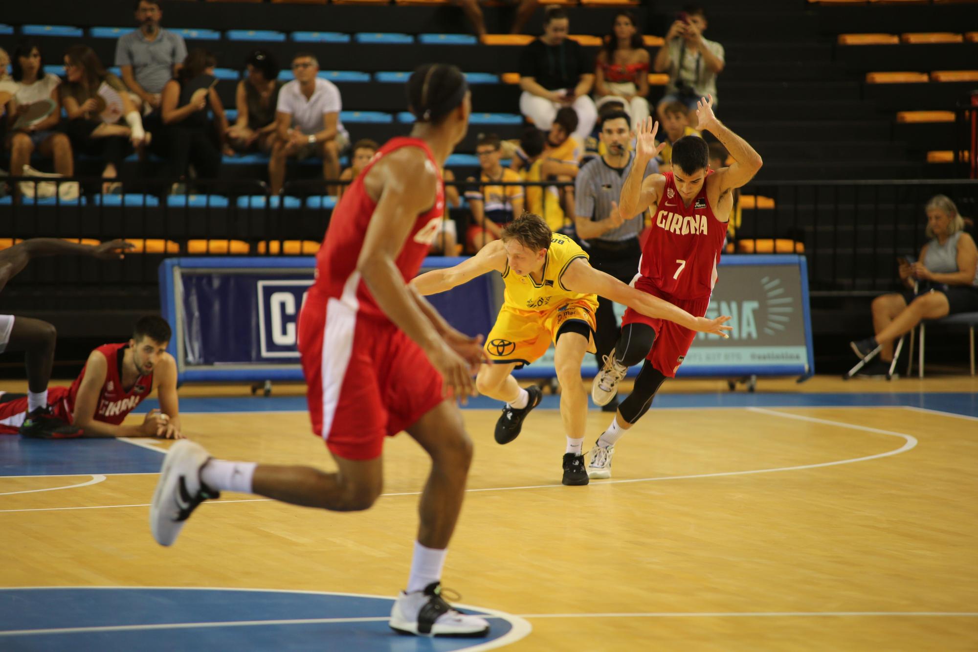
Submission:
[[[709,177],[713,170],[708,170]],[[689,206],[683,203],[672,172],[659,198],[640,271],[658,290],[679,299],[710,296],[717,282],[717,263],[727,235],[727,223],[713,214],[703,187]]]

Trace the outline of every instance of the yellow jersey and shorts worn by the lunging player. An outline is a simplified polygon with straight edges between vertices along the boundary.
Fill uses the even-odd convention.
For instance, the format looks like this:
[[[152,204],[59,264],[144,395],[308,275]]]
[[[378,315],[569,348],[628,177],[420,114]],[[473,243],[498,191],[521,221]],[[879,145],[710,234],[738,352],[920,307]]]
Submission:
[[[485,349],[497,364],[517,363],[517,368],[540,358],[560,328],[568,321],[583,322],[590,330],[588,351],[595,352],[595,311],[598,296],[568,290],[560,282],[567,266],[587,253],[570,238],[554,234],[544,261],[543,278],[537,283],[529,275],[503,271],[506,285],[503,307],[496,325],[486,338]]]

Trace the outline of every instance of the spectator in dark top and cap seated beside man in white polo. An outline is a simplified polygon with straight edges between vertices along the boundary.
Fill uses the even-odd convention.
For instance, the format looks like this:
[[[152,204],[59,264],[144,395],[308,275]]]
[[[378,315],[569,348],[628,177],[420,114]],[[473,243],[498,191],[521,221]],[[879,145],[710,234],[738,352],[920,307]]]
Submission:
[[[279,105],[279,63],[266,50],[248,55],[246,76],[238,82],[235,105],[238,119],[228,128],[228,139],[238,152],[270,152],[275,143],[275,109]]]

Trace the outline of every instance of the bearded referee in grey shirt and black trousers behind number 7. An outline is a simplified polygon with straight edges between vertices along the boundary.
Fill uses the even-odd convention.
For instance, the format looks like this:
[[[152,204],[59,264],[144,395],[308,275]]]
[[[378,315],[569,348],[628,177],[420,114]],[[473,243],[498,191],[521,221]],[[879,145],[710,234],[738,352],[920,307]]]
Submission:
[[[600,140],[604,144],[604,154],[585,164],[574,181],[577,236],[591,256],[592,266],[623,283],[631,283],[639,272],[639,258],[642,257],[639,236],[645,228],[643,213],[627,218],[618,213],[621,187],[635,161],[635,155],[629,149],[632,137],[632,122],[624,111],[603,116]],[[645,176],[658,170],[658,164],[652,160],[645,168]],[[603,297],[598,298],[596,321],[595,347],[600,369],[604,356],[614,349],[619,332],[613,303]],[[613,411],[617,406],[615,398],[601,409]]]

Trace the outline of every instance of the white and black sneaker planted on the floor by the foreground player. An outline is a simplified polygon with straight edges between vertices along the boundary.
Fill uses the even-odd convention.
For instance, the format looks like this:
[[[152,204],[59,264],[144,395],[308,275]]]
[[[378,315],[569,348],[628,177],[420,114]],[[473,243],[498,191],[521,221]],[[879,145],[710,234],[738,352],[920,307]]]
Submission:
[[[489,622],[452,609],[441,597],[441,582],[422,591],[401,591],[390,611],[390,629],[419,636],[485,636]]]

